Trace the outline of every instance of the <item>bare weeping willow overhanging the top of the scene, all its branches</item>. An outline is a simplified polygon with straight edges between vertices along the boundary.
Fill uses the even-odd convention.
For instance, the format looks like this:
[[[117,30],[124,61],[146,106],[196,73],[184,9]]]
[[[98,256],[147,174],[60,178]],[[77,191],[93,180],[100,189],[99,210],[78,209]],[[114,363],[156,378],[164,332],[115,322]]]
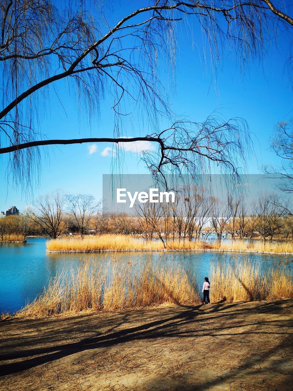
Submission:
[[[156,159],[149,154],[143,159],[159,177],[168,167],[193,173],[210,163],[237,172],[235,163],[245,158],[247,147],[245,122],[216,117],[201,123],[170,121],[173,125],[163,132],[125,139],[118,126],[127,114],[123,107],[143,108],[154,129],[160,114],[170,118],[158,63],[166,61],[165,68],[172,69],[175,30],[184,20],[201,27],[213,67],[222,47],[245,63],[259,59],[266,39],[270,41],[279,25],[292,25],[292,19],[269,0],[155,0],[110,27],[103,15],[95,20],[82,7],[61,12],[50,0],[2,0],[0,18],[0,154],[11,153],[12,168],[18,173],[13,178],[23,183],[32,179],[37,167],[33,163],[41,156],[39,146],[82,142],[157,143]],[[104,91],[111,92],[113,138],[45,139],[38,124],[46,98],[61,81],[78,91],[89,116],[100,107]]]

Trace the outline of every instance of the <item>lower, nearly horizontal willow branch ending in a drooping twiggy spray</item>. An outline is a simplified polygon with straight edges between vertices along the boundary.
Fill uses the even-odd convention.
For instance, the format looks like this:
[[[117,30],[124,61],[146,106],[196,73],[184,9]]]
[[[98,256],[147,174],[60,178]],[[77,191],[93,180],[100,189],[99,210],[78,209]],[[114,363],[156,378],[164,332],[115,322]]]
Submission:
[[[141,159],[158,181],[168,174],[198,174],[211,169],[211,164],[220,172],[239,174],[239,161],[250,154],[250,137],[247,124],[239,118],[220,123],[220,118],[210,116],[203,123],[187,120],[176,121],[168,129],[144,137],[130,138],[78,138],[71,140],[38,140],[0,148],[0,154],[34,149],[44,145],[68,145],[81,143],[124,143],[146,141],[157,143],[155,151],[143,151]]]

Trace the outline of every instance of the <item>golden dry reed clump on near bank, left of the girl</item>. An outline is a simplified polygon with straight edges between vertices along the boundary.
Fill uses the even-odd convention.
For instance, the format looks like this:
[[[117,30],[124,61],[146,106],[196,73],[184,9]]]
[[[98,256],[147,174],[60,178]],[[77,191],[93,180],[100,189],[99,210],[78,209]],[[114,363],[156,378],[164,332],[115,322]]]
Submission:
[[[163,303],[198,302],[194,280],[180,267],[145,265],[138,274],[120,262],[84,262],[52,278],[17,316],[48,316],[84,310],[121,310]]]

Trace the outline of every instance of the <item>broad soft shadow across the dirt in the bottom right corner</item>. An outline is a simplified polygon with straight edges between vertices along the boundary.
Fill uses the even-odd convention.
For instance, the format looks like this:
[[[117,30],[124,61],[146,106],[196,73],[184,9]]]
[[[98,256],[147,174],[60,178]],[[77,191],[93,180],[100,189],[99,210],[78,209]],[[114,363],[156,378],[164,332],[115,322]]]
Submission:
[[[272,307],[270,306],[270,308]],[[262,311],[262,308],[258,309]],[[260,325],[264,325],[264,323],[272,322],[261,322]],[[289,326],[290,324],[292,325],[292,321],[290,321],[289,324],[286,324],[286,326]],[[280,325],[280,327],[283,326],[285,326],[284,322],[282,325]],[[154,391],[203,391],[209,389],[223,389],[230,391],[238,391],[243,389],[291,391],[293,383],[293,334],[281,334],[285,335],[284,339],[282,339],[282,341],[276,344],[273,348],[267,350],[266,352],[262,351],[261,355],[258,355],[257,352],[251,352],[244,358],[244,361],[241,362],[240,365],[233,369],[231,368],[229,371],[221,371],[214,376],[210,376],[209,378],[207,376],[203,377],[200,381],[198,378],[197,380],[193,381],[193,376],[191,373],[189,373],[191,377],[185,382],[182,382],[182,379],[179,380],[178,378],[171,379],[168,378],[168,376],[160,376],[150,381],[147,380],[146,382],[141,382],[139,387],[144,390],[151,389]],[[243,333],[241,333],[241,335],[243,335]],[[284,350],[288,348],[291,354],[284,355]],[[207,354],[211,354],[211,352],[208,351]],[[288,360],[291,360],[291,364],[289,365],[291,369],[288,369]],[[189,362],[186,360],[185,371],[190,369],[188,368],[188,364]],[[204,369],[206,366],[207,363],[203,362],[202,368]],[[277,385],[277,387],[275,385]]]

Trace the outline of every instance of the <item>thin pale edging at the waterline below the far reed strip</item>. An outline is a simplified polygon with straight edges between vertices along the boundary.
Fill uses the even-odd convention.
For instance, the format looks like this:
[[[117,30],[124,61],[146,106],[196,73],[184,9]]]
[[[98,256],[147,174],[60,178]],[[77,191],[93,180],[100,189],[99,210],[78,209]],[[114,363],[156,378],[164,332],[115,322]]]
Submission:
[[[207,253],[248,253],[248,254],[271,254],[271,255],[293,255],[292,252],[277,251],[258,251],[258,250],[234,250],[234,249],[98,249],[98,250],[48,250],[46,253],[51,254],[86,254],[86,253],[183,253],[183,252],[207,252]]]

